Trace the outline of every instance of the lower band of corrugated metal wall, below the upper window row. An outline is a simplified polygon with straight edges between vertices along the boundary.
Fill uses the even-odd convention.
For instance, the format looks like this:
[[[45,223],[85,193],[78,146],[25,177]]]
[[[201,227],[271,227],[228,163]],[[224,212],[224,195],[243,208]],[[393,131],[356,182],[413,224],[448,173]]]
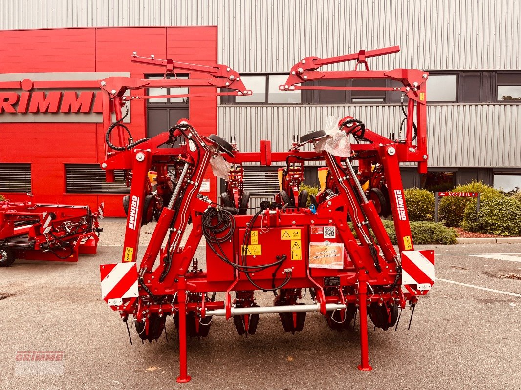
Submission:
[[[429,105],[430,166],[521,166],[521,105]],[[256,151],[260,139],[287,150],[293,134],[323,127],[328,115],[352,115],[371,130],[398,134],[399,106],[221,106],[219,134],[237,136],[241,151]]]

